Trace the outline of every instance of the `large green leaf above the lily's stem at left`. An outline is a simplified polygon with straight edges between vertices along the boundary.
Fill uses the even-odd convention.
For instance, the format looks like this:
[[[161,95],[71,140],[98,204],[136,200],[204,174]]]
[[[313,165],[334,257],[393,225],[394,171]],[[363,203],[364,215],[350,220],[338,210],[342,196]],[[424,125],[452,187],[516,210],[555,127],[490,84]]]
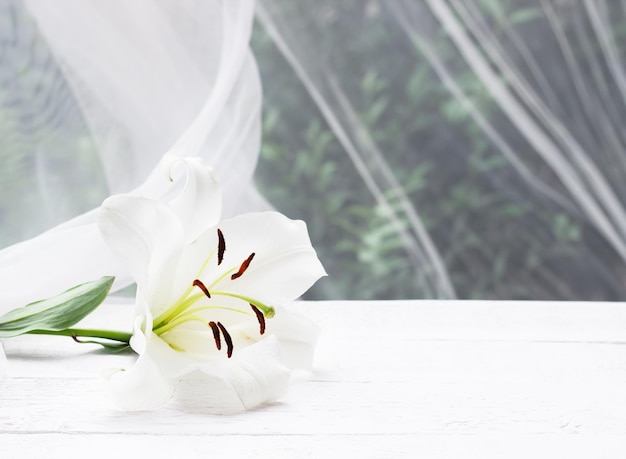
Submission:
[[[55,297],[9,311],[0,317],[0,338],[75,325],[104,301],[114,279],[108,276],[80,284]]]

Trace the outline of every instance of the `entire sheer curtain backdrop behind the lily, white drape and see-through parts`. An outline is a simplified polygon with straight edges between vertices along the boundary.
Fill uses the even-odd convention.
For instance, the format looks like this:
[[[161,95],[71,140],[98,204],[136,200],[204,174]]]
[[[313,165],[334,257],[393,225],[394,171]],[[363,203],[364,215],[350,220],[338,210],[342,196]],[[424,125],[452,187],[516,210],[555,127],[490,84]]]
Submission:
[[[124,286],[91,209],[163,193],[171,150],[212,164],[227,213],[308,222],[330,274],[313,298],[626,297],[626,2],[0,11],[7,307],[104,274]]]

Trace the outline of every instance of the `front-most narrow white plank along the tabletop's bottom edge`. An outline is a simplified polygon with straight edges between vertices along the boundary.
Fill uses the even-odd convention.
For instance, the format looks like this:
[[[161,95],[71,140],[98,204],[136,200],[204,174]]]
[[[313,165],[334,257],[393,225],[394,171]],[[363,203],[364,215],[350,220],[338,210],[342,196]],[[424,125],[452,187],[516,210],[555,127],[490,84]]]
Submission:
[[[626,440],[613,435],[68,435],[0,434],[3,457],[460,459],[622,458]],[[7,452],[9,455],[4,456]],[[102,453],[100,453],[102,451]],[[14,455],[10,455],[15,452]]]

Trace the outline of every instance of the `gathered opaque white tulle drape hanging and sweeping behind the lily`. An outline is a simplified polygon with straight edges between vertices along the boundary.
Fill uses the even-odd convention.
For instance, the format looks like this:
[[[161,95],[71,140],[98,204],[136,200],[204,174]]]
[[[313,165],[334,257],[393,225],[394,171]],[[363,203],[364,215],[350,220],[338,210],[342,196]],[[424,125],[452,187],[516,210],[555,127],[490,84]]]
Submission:
[[[154,169],[169,151],[212,166],[225,215],[267,207],[251,184],[261,105],[252,0],[25,3],[90,128],[109,194],[162,197]],[[0,252],[0,312],[102,275],[117,276],[114,288],[130,283],[96,211]]]

